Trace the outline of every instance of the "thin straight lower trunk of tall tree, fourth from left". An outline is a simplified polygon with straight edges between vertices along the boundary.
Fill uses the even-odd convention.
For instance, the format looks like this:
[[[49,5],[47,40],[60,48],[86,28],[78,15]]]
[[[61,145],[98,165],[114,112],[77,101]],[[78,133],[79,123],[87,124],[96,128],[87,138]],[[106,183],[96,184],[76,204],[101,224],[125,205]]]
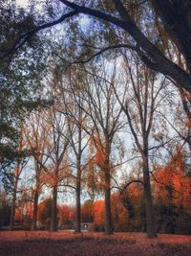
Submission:
[[[81,169],[80,160],[77,160],[77,179],[76,179],[76,216],[75,216],[75,232],[81,232]]]

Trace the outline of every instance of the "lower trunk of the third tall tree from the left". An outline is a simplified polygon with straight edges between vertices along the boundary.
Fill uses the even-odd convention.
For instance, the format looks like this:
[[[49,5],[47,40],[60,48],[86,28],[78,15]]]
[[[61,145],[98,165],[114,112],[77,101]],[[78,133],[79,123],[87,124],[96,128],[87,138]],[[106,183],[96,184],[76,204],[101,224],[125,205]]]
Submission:
[[[53,186],[51,231],[57,231],[57,185]]]

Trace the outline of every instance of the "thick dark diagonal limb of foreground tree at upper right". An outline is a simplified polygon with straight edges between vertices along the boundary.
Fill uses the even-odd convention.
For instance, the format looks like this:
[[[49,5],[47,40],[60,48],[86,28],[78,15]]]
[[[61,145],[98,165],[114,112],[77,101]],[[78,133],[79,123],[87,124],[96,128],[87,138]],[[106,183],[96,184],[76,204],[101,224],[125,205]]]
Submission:
[[[175,62],[166,58],[160,50],[144,35],[139,29],[137,24],[131,18],[121,1],[115,0],[117,12],[120,14],[121,19],[116,16],[110,15],[105,12],[100,12],[85,6],[79,6],[68,0],[60,0],[66,6],[74,9],[76,12],[89,14],[98,19],[106,20],[115,24],[117,27],[129,33],[137,42],[139,50],[137,51],[143,63],[149,68],[162,73],[164,76],[170,77],[176,81],[182,88],[191,92],[191,76],[183,69],[180,68]],[[154,1],[152,1],[154,2]],[[163,1],[155,1],[163,2]],[[171,1],[172,2],[172,1]],[[140,50],[141,49],[141,50]]]

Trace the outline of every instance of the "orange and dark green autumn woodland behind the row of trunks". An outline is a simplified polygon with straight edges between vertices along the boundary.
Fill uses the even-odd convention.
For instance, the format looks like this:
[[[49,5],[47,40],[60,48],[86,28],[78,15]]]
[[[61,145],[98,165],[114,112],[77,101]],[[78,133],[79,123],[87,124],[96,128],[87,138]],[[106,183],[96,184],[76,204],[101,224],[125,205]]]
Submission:
[[[159,233],[190,234],[190,177],[185,176],[182,155],[156,173],[154,181],[154,210]],[[167,174],[167,175],[166,175]],[[170,184],[170,185],[169,185]],[[3,197],[2,197],[3,198]],[[9,227],[11,201],[3,198],[1,224]],[[81,205],[81,228],[88,231],[104,231],[105,213],[103,199],[87,199]],[[37,230],[50,230],[53,199],[47,198],[38,204]],[[111,196],[113,230],[115,232],[145,232],[145,205],[141,185],[132,184],[124,195]],[[31,230],[33,218],[32,200],[19,198],[15,212],[15,229]],[[76,212],[74,205],[57,204],[59,230],[74,230]]]

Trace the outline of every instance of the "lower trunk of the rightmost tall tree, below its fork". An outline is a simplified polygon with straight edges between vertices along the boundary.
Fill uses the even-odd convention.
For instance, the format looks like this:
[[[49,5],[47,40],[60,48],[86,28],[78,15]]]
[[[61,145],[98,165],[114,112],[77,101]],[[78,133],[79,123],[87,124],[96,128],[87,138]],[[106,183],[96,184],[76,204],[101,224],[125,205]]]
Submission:
[[[153,209],[153,198],[151,193],[151,183],[149,174],[148,151],[144,151],[143,159],[143,181],[144,181],[144,199],[146,210],[146,232],[149,238],[157,236],[155,215]]]

